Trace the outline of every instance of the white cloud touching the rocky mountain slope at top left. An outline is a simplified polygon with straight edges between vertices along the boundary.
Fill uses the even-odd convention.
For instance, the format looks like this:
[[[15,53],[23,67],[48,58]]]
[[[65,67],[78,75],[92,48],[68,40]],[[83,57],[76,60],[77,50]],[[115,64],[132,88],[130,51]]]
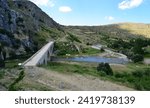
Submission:
[[[53,7],[55,4],[53,0],[30,0],[38,6],[49,6]]]

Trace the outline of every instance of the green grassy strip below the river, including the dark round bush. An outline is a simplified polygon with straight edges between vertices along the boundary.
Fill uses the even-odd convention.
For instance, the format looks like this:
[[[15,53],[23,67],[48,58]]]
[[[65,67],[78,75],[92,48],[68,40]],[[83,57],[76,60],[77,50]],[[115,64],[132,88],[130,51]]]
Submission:
[[[82,75],[92,75],[101,79],[107,79],[121,85],[125,85],[136,90],[150,90],[150,68],[144,65],[135,64],[127,66],[127,69],[116,71],[109,64],[101,63],[96,65],[72,64],[70,62],[51,62],[44,68],[62,73],[77,73]]]

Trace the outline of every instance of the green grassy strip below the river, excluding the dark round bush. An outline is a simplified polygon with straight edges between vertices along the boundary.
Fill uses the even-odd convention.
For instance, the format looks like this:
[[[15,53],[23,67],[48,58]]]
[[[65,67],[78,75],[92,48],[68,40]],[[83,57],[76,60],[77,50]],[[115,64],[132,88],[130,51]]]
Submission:
[[[150,90],[150,74],[147,73],[150,68],[149,66],[143,64],[128,64],[126,66],[112,65],[111,67],[114,71],[113,76],[107,76],[97,72],[96,63],[54,62],[49,63],[48,66],[43,67],[68,74],[77,73],[82,75],[92,75],[95,77],[100,77],[104,80],[110,80],[121,85],[132,87],[137,90]]]

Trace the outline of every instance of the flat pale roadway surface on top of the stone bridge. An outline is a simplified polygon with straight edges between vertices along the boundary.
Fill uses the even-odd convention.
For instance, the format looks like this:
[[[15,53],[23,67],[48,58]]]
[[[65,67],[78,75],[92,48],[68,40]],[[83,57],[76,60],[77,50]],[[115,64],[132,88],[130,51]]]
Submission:
[[[54,42],[47,43],[44,47],[42,47],[37,53],[35,53],[32,57],[30,57],[25,63],[24,66],[36,66],[39,61],[44,57],[46,52],[49,50],[51,45],[53,45]]]

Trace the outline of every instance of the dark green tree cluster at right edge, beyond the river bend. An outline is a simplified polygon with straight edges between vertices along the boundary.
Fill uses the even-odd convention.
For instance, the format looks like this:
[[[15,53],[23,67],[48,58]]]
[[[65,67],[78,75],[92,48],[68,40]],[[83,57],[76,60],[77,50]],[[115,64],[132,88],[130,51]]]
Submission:
[[[145,49],[145,47],[148,47],[149,45],[149,39],[141,38],[131,39],[130,41],[115,39],[108,43],[108,47],[127,55],[134,63],[143,61],[144,55],[150,54],[150,52]]]

